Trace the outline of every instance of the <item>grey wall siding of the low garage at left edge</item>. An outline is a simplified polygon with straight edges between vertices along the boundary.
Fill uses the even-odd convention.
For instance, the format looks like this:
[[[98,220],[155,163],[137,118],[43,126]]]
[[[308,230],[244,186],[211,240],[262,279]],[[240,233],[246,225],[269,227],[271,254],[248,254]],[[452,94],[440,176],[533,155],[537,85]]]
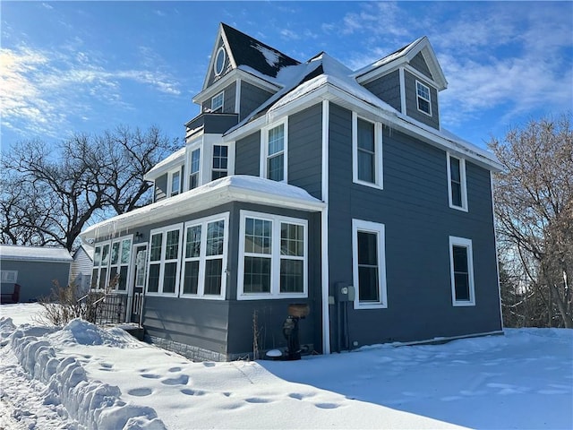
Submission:
[[[52,292],[54,280],[62,286],[68,285],[70,276],[70,262],[30,262],[16,260],[2,260],[3,271],[18,271],[16,283],[21,286],[20,301],[37,301],[40,297],[47,297]],[[3,293],[12,293],[13,284],[2,283]]]

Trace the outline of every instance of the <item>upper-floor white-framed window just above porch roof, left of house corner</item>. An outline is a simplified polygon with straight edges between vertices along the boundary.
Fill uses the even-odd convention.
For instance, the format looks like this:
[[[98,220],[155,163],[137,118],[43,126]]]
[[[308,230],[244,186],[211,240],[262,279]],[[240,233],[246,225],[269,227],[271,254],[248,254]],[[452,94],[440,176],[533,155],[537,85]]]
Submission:
[[[286,120],[279,125],[261,131],[261,172],[273,181],[286,182]]]

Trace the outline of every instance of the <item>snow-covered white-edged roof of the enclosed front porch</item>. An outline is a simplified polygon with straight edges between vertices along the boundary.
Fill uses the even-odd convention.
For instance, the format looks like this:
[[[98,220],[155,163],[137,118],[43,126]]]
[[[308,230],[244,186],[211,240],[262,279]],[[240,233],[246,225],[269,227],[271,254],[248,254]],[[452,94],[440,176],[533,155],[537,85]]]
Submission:
[[[227,202],[253,202],[270,206],[320,211],[325,203],[295,185],[258,176],[227,176],[193,190],[102,221],[81,232],[82,239],[107,236],[153,222],[204,211]]]

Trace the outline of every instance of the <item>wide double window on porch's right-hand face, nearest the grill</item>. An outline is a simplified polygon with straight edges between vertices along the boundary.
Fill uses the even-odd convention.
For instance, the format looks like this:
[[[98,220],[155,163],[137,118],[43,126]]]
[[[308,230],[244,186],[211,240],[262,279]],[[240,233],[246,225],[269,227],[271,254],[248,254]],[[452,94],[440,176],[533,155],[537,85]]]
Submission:
[[[241,211],[239,300],[308,296],[307,225]]]

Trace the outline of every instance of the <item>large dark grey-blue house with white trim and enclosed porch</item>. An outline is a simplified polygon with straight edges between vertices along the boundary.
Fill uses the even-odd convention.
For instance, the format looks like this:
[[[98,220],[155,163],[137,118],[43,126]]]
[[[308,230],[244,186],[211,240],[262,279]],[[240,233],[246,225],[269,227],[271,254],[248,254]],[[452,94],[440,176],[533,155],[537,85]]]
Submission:
[[[290,305],[309,352],[500,332],[500,164],[442,127],[446,88],[425,37],[353,71],[221,23],[154,202],[81,234],[93,280],[197,359],[285,348]]]

